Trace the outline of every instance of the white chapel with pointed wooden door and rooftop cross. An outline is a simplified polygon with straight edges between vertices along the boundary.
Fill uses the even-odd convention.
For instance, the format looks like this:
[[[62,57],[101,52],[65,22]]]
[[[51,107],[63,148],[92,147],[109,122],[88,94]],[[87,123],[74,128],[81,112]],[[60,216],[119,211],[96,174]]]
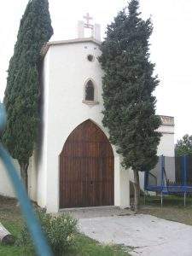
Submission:
[[[84,38],[84,28],[91,37]],[[131,170],[102,125],[100,26],[79,21],[79,38],[43,49],[41,128],[29,167],[29,196],[48,212],[62,208],[130,207]],[[161,116],[158,154],[174,156],[174,119]],[[143,187],[143,175],[141,175]],[[0,162],[0,195],[15,196]]]

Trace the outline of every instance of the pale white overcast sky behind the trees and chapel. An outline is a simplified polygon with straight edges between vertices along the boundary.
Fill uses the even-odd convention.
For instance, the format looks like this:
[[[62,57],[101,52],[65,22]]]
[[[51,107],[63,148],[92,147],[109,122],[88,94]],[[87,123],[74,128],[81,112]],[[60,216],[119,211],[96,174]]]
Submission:
[[[6,86],[6,70],[13,55],[20,18],[28,0],[6,0],[0,9],[0,100]],[[51,40],[77,37],[77,21],[89,12],[96,23],[105,27],[126,0],[49,0],[54,27]],[[175,138],[192,134],[192,0],[140,0],[143,18],[152,16],[151,60],[160,86],[155,91],[157,113],[175,117]]]

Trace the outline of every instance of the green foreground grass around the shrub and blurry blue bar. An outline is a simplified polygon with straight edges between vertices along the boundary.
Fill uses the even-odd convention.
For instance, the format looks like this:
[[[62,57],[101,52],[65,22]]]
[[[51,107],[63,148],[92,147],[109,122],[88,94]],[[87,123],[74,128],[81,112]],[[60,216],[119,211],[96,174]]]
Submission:
[[[23,225],[17,201],[0,196],[0,222],[17,238]],[[129,248],[104,246],[81,234],[77,235],[75,246],[65,256],[128,256]],[[33,256],[27,247],[5,246],[0,244],[1,256]]]

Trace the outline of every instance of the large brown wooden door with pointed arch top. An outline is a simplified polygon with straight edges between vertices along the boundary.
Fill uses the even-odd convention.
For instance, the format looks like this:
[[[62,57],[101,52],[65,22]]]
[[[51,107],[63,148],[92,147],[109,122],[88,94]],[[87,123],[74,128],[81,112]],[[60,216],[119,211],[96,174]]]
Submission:
[[[86,120],[60,154],[60,208],[113,205],[113,187],[113,148],[103,131]]]

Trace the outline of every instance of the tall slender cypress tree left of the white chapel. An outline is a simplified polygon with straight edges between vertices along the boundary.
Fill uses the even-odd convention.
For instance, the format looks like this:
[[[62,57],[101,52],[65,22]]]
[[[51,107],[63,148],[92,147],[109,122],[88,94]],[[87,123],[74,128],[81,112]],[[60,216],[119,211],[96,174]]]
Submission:
[[[19,161],[27,188],[27,169],[38,136],[38,70],[41,49],[53,34],[48,0],[30,0],[20,20],[9,61],[4,104],[8,115],[3,143]]]

